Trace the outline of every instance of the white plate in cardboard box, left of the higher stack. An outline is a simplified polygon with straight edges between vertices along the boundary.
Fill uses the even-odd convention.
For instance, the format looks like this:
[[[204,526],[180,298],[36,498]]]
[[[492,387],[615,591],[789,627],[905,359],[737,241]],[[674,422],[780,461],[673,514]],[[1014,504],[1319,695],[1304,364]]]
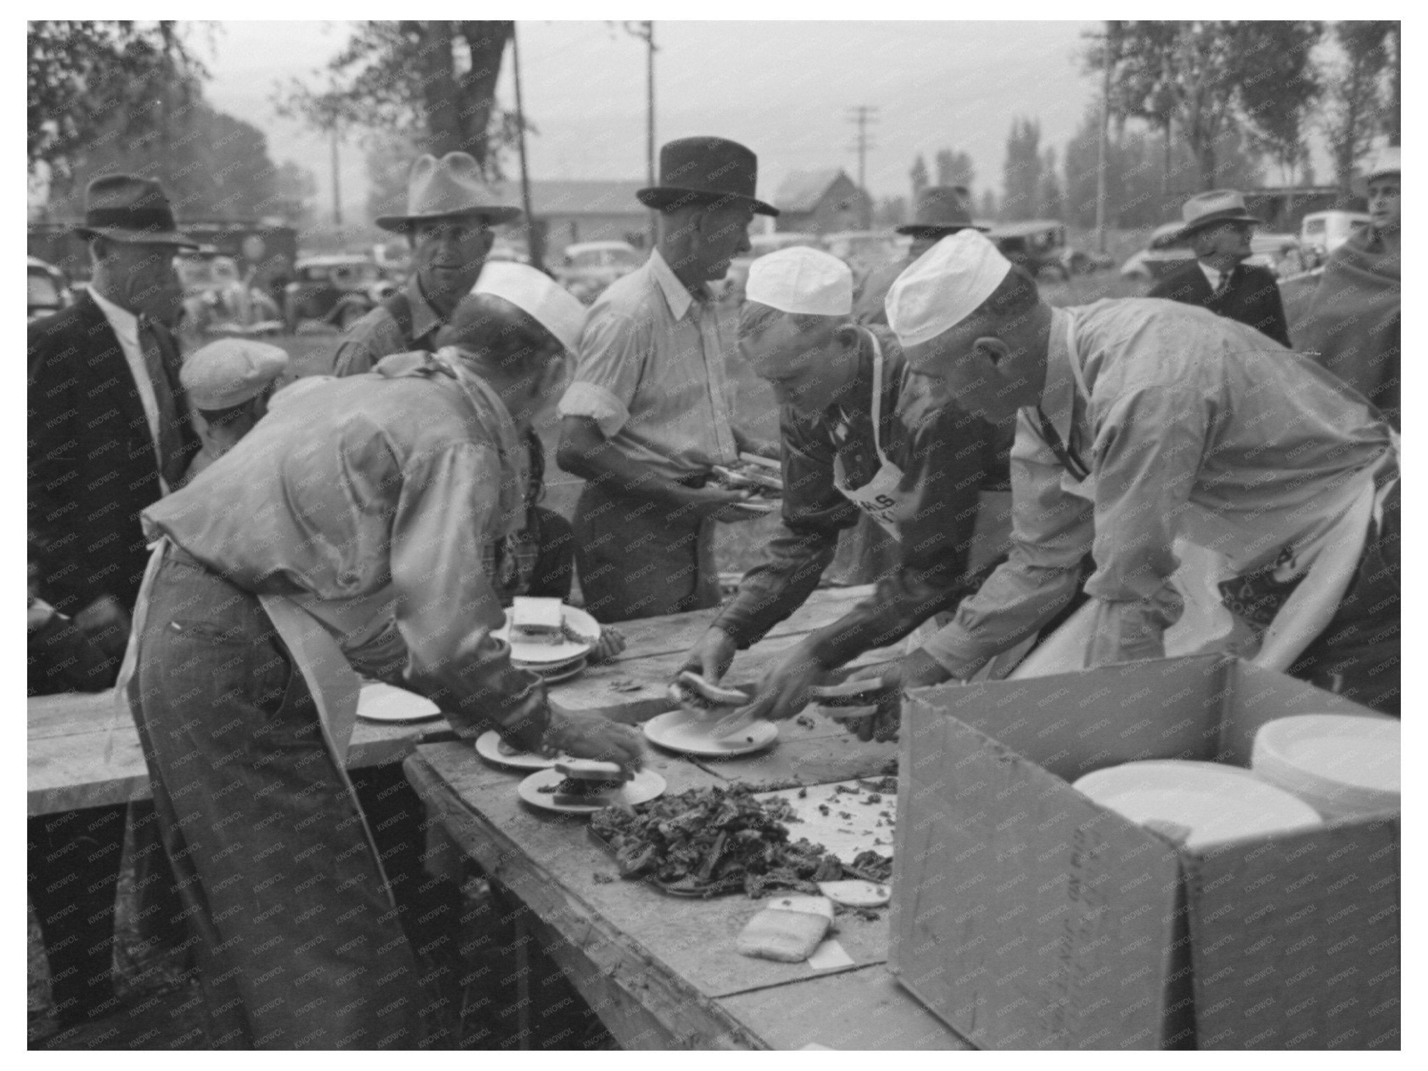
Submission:
[[[1132,823],[1187,827],[1187,848],[1319,824],[1302,800],[1221,763],[1125,763],[1087,774],[1071,787]]]

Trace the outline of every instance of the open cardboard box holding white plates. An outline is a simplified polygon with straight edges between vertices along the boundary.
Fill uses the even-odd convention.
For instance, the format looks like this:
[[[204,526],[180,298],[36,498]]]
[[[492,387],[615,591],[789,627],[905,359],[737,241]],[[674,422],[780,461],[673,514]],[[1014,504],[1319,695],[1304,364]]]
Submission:
[[[1397,1048],[1397,814],[1197,853],[1071,788],[1308,713],[1371,711],[1220,655],[914,693],[890,967],[982,1048]]]

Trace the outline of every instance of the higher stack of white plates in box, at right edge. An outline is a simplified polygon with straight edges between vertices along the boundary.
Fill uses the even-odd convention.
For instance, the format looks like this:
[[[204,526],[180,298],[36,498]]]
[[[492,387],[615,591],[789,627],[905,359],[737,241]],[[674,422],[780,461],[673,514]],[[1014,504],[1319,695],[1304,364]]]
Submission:
[[[1304,800],[1325,818],[1399,808],[1397,718],[1301,714],[1259,727],[1255,774]]]

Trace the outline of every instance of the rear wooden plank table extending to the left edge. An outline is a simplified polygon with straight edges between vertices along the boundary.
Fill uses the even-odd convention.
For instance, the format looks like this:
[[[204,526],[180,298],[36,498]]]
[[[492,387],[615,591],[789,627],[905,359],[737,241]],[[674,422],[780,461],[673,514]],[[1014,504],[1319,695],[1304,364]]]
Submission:
[[[747,667],[741,680],[755,678],[780,645],[834,621],[867,591],[865,587],[820,591],[770,633],[757,657],[741,655],[741,673]],[[617,714],[625,720],[668,710],[671,704],[664,694],[668,677],[713,614],[677,614],[621,625],[630,640],[628,653],[608,665],[588,670],[578,681],[553,687],[553,705],[573,713]],[[26,705],[27,810],[31,817],[149,798],[149,770],[139,733],[129,713],[114,707],[111,690],[41,695]],[[420,743],[450,738],[451,727],[444,718],[413,724],[358,720],[347,765],[400,763]]]

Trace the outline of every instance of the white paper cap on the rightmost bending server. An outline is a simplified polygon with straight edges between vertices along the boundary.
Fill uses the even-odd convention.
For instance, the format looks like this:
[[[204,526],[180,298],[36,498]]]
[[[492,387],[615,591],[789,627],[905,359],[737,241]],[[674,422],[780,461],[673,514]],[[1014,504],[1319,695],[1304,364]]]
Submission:
[[[955,327],[991,297],[1011,261],[975,230],[948,234],[897,277],[883,303],[902,346],[917,346]]]

